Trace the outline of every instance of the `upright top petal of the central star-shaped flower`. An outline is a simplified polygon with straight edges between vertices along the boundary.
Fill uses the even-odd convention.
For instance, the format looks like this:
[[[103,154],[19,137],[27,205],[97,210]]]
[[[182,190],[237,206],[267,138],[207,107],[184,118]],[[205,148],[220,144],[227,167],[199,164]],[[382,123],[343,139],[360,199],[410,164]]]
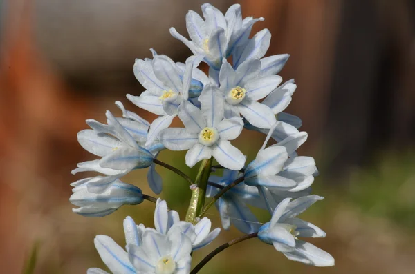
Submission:
[[[199,101],[206,126],[216,128],[223,119],[224,100],[221,91],[216,86],[208,84],[203,88]]]

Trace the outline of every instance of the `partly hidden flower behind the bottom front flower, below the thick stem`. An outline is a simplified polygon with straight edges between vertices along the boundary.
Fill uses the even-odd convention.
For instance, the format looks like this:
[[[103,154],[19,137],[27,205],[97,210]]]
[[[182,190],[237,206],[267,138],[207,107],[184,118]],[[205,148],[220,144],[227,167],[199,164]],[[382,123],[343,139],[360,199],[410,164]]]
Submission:
[[[167,204],[160,198],[157,199],[156,211],[154,211],[154,227],[159,233],[170,235],[178,230],[185,233],[192,242],[192,250],[210,244],[221,232],[221,228],[215,228],[212,232],[212,223],[208,217],[204,217],[197,224],[180,221],[176,211],[168,211]]]

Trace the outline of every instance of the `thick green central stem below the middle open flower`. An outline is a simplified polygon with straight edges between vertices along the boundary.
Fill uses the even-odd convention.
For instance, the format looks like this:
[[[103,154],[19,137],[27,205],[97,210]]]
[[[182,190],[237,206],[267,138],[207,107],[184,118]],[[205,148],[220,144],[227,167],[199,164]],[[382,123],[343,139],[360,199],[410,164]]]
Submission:
[[[189,208],[187,209],[186,222],[194,223],[196,216],[200,214],[205,205],[206,188],[208,187],[211,166],[212,158],[204,159],[199,167],[199,172],[194,181],[196,186],[192,190],[192,197],[190,198]]]

